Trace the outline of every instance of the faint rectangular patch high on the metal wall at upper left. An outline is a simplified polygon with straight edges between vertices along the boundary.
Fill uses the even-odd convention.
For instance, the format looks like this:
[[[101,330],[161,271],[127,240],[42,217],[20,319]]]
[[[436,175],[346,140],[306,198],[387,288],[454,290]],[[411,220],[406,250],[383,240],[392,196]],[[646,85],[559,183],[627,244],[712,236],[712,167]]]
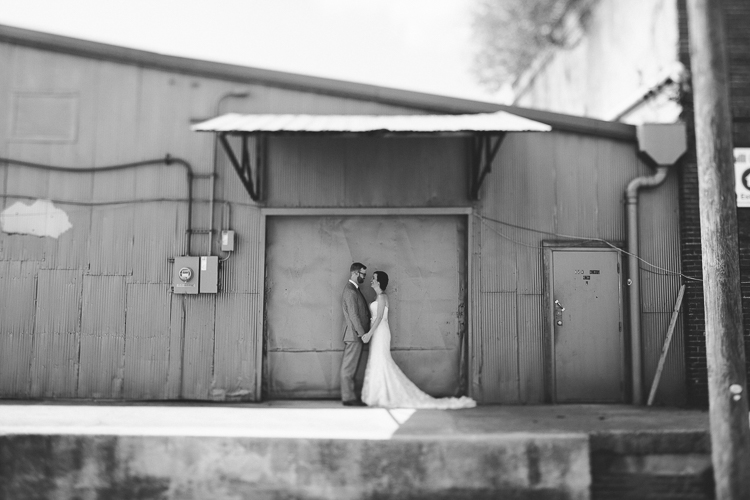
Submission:
[[[11,140],[73,142],[78,129],[78,94],[14,92]]]

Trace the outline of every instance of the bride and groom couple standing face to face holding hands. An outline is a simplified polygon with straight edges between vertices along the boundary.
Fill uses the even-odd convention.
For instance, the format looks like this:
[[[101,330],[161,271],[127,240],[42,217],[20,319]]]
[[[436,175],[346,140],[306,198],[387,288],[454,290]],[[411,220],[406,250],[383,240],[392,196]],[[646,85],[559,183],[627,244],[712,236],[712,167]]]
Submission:
[[[359,286],[365,282],[367,267],[355,262],[349,268],[349,282],[344,286],[344,356],[341,361],[341,401],[344,406],[379,406],[383,408],[472,408],[476,402],[466,396],[433,398],[422,392],[391,357],[391,329],[388,324],[389,300],[385,293],[388,275],[375,271],[370,286],[377,298],[369,306]],[[354,376],[362,347],[370,343],[365,368],[362,399],[357,398]]]

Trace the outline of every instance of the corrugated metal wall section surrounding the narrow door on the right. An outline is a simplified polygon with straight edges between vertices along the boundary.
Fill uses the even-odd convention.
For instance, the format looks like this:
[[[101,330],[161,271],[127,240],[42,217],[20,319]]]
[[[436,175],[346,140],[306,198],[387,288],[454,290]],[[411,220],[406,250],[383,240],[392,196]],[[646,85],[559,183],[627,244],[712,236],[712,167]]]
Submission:
[[[480,400],[544,400],[549,346],[543,338],[541,243],[563,235],[625,242],[625,187],[651,173],[633,144],[563,133],[506,138],[476,217],[471,356],[472,387]],[[639,224],[641,257],[679,272],[677,187],[672,173],[665,185],[643,191]],[[644,380],[650,386],[681,281],[641,267]],[[680,323],[673,338],[659,404],[685,400]]]

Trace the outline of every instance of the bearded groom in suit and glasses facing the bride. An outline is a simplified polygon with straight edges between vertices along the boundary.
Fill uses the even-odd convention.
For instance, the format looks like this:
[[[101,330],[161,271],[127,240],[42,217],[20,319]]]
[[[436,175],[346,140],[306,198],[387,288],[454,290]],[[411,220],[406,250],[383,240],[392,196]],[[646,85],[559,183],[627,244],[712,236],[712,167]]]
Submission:
[[[370,309],[359,289],[367,267],[355,262],[349,267],[349,282],[341,298],[344,309],[344,357],[341,360],[341,402],[344,406],[365,406],[354,390],[354,375],[362,355],[362,335],[370,329]]]

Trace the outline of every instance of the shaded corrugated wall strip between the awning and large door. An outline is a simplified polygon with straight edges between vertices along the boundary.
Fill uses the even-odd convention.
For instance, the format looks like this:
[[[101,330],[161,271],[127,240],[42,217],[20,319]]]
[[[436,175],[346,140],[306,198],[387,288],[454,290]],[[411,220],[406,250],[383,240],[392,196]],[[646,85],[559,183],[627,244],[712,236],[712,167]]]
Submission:
[[[466,140],[278,137],[269,141],[273,207],[465,206]]]

